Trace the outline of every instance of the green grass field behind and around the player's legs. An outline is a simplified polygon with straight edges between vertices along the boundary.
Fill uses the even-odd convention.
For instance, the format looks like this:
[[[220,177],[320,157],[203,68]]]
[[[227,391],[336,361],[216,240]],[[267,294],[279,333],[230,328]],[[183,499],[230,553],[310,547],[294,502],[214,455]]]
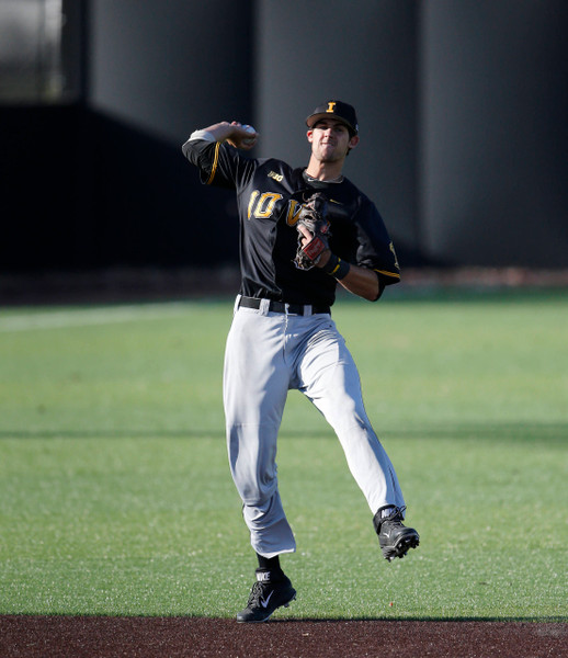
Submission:
[[[254,558],[220,399],[231,300],[0,311],[0,614],[232,616]],[[421,545],[380,557],[323,419],[279,450],[287,616],[568,621],[568,295],[341,299]]]

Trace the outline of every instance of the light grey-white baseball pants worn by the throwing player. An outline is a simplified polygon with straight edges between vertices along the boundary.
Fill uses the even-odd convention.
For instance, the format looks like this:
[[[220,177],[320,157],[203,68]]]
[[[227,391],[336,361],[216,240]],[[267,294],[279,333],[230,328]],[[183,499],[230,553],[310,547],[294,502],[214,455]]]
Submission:
[[[395,469],[364,409],[355,363],[328,314],[238,307],[227,338],[224,404],[231,475],[253,549],[293,553],[279,494],[276,440],[288,389],[304,393],[333,428],[373,514],[405,504]]]

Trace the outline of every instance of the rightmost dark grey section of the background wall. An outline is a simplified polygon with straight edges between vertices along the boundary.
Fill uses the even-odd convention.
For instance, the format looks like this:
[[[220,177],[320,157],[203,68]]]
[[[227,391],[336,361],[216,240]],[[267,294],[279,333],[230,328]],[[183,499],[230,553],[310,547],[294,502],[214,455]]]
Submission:
[[[423,3],[422,245],[568,264],[568,2]]]

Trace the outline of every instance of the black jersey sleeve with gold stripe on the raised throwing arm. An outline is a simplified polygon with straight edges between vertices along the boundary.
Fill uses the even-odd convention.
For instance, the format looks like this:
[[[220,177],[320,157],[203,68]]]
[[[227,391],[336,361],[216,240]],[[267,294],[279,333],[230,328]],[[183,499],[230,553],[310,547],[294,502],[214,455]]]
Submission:
[[[253,160],[225,143],[191,139],[182,151],[197,167],[201,182],[206,185],[236,190],[253,171]]]

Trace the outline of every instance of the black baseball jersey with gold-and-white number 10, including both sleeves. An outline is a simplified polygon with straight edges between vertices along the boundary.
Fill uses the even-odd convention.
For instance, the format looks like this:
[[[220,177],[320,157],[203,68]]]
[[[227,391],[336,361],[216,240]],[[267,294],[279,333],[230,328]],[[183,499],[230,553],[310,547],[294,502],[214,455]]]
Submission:
[[[299,270],[295,224],[316,190],[329,201],[333,253],[377,273],[380,287],[398,283],[400,271],[383,219],[353,183],[314,181],[305,169],[273,158],[253,159],[226,143],[191,139],[184,156],[205,184],[235,190],[240,218],[240,294],[288,304],[331,306],[337,281],[318,268]]]

